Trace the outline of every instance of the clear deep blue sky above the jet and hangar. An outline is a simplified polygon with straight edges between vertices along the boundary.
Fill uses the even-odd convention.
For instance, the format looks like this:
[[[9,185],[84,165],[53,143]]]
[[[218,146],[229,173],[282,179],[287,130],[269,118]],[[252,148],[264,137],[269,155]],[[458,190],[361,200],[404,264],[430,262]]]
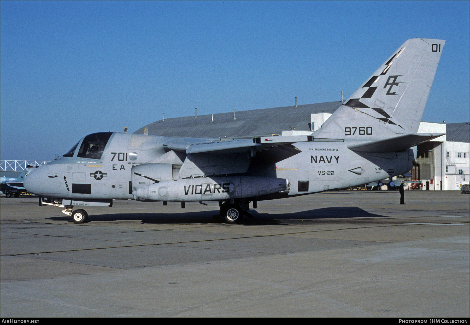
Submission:
[[[446,40],[423,120],[469,121],[469,1],[1,1],[1,159],[93,132],[321,103]]]

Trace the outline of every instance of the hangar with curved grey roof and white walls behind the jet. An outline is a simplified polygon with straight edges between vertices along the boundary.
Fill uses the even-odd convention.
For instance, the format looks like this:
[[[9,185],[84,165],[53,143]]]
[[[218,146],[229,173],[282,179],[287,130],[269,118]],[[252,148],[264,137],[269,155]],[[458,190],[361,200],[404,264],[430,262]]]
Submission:
[[[134,133],[210,138],[310,135],[342,102],[233,111],[162,119]],[[470,124],[421,122],[419,133],[447,133],[417,146],[417,166],[406,180],[416,190],[458,190],[470,180]]]

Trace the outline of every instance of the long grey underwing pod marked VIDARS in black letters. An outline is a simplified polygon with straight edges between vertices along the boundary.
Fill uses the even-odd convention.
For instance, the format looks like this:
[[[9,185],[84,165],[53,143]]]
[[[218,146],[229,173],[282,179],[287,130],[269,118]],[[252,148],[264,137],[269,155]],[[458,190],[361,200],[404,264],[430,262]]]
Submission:
[[[154,201],[215,201],[251,198],[287,189],[287,180],[274,177],[196,177],[137,188],[134,198]]]

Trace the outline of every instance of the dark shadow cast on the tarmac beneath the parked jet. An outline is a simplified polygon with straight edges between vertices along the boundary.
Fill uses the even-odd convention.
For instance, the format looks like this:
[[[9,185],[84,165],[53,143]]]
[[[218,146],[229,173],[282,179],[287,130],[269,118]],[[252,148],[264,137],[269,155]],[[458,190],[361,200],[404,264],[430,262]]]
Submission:
[[[335,219],[335,218],[380,218],[384,217],[379,214],[371,214],[360,209],[357,206],[335,206],[321,209],[306,210],[293,213],[258,213],[256,210],[249,210],[253,219],[244,216],[243,222],[246,224],[259,223],[278,223],[280,219]],[[141,223],[213,223],[217,222],[212,216],[219,214],[218,210],[199,211],[199,212],[182,212],[182,213],[126,213],[126,214],[93,214],[89,215],[88,222],[93,221],[132,221],[140,220]],[[71,221],[70,217],[60,216],[46,218],[48,220]],[[221,219],[219,219],[221,221]]]

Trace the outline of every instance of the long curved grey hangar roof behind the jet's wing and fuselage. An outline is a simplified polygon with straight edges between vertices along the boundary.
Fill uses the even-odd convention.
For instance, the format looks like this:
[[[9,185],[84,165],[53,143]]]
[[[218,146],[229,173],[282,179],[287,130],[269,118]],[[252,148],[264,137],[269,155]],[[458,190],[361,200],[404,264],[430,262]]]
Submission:
[[[310,130],[310,114],[325,112],[333,113],[341,101],[315,103],[306,105],[263,108],[250,111],[236,111],[234,113],[186,116],[159,120],[146,127],[149,135],[188,136],[188,137],[236,137],[281,134],[282,131],[295,127],[296,130]],[[144,127],[134,133],[143,134]]]

